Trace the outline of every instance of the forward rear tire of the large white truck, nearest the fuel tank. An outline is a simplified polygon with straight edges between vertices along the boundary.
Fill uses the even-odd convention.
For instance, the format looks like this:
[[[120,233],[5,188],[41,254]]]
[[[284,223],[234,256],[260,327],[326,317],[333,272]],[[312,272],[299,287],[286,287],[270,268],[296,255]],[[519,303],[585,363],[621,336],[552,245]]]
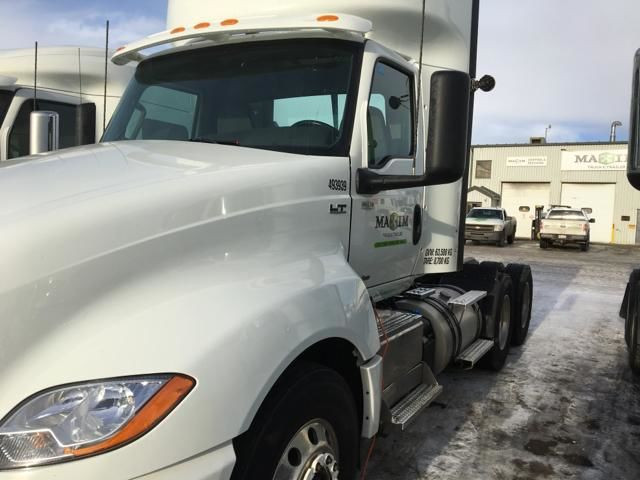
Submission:
[[[509,346],[511,344],[511,291],[513,289],[511,278],[508,275],[499,275],[497,279],[498,285],[494,289],[491,301],[489,315],[491,315],[495,329],[494,329],[494,344],[493,348],[487,353],[481,360],[481,365],[484,368],[490,370],[499,371],[504,366],[507,355],[509,354]],[[505,305],[509,302],[508,305]],[[508,315],[509,318],[505,318],[504,315]],[[503,325],[503,321],[506,325]],[[503,329],[503,335],[500,335],[501,326]],[[506,333],[504,333],[506,331]]]

